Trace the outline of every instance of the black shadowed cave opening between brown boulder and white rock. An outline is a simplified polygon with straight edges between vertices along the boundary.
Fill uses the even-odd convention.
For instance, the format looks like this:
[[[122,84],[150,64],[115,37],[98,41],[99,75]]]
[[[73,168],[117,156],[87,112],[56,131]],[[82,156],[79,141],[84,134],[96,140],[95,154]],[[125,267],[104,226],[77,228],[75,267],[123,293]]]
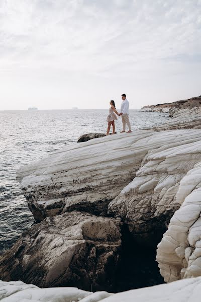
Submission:
[[[114,292],[165,283],[156,262],[156,248],[163,233],[158,231],[151,234],[154,240],[150,244],[146,239],[134,239],[128,226],[123,225],[121,260],[116,272]]]

